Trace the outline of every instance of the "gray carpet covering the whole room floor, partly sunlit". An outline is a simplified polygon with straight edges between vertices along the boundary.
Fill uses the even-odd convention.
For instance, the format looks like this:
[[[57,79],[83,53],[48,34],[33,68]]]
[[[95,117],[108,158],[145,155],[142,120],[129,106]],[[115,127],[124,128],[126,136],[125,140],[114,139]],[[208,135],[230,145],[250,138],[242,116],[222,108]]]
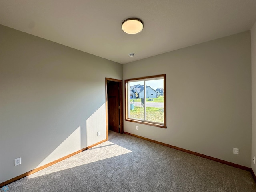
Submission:
[[[250,172],[110,131],[107,142],[13,182],[8,189],[8,192],[255,192],[256,184]]]

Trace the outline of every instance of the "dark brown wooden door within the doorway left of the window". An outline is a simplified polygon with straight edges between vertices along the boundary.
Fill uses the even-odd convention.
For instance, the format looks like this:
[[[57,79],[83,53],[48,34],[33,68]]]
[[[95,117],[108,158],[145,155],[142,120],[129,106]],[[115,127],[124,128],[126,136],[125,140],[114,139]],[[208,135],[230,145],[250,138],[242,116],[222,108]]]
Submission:
[[[119,84],[120,82],[108,81],[108,129],[119,133]]]

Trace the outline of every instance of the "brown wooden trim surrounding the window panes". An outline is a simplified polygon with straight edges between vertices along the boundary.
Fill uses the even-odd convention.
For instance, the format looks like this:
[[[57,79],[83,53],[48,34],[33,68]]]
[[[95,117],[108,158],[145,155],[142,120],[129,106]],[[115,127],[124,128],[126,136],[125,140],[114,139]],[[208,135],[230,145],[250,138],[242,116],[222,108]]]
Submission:
[[[153,123],[153,122],[146,122],[146,121],[129,119],[128,118],[128,101],[129,101],[129,98],[128,98],[128,92],[127,92],[128,91],[128,81],[146,80],[146,79],[158,78],[158,77],[164,78],[164,94],[163,94],[164,95],[164,124],[162,125],[162,124],[158,124],[157,122]],[[125,84],[125,89],[124,89],[125,119],[124,120],[130,121],[130,122],[135,122],[135,123],[140,123],[140,124],[145,124],[145,125],[149,125],[149,126],[167,128],[167,126],[166,126],[166,74],[126,79],[126,80],[124,80],[124,84]]]

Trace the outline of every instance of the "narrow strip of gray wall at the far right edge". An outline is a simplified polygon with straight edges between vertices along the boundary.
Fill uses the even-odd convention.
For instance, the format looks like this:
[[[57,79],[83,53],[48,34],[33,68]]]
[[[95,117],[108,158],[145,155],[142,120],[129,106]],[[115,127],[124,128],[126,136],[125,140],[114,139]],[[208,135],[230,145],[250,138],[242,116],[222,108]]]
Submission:
[[[252,170],[256,174],[256,165],[253,163],[253,156],[256,156],[256,22],[251,29],[252,42]]]

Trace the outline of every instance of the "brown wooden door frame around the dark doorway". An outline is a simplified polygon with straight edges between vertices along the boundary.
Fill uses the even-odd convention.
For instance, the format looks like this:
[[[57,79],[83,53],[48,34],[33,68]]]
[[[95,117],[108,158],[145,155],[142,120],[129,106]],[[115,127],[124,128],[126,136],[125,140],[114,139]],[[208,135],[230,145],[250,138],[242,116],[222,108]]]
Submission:
[[[108,81],[114,81],[119,82],[119,100],[120,100],[120,110],[119,110],[119,116],[120,116],[120,128],[119,132],[123,133],[123,80],[119,79],[112,79],[112,78],[105,78],[105,91],[106,91],[106,139],[108,140]]]

